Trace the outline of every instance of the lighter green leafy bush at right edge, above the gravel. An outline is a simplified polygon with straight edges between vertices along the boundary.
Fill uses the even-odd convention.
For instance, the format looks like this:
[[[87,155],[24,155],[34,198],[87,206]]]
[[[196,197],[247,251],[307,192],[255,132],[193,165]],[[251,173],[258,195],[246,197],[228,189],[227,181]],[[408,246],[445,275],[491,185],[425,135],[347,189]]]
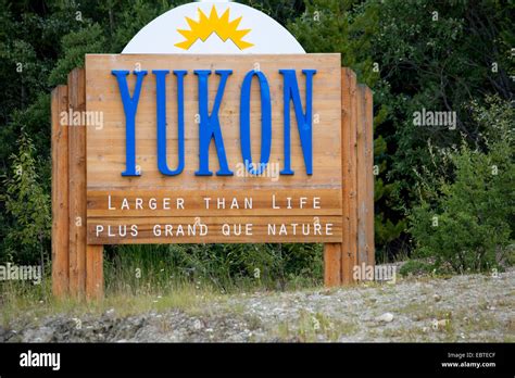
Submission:
[[[418,174],[420,204],[410,215],[416,254],[459,273],[506,263],[514,235],[514,110],[488,98],[473,103],[473,117],[486,131],[474,148],[430,148],[432,167]]]

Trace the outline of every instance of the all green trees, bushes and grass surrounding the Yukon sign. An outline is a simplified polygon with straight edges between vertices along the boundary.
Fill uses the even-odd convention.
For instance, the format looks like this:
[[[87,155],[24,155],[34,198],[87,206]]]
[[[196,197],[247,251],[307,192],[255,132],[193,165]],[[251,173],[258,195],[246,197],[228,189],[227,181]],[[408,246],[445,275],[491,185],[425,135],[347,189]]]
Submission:
[[[85,53],[118,53],[184,2],[0,0],[0,264],[41,265],[46,277],[0,282],[0,311],[89,306],[50,298],[50,91]],[[409,260],[406,276],[514,264],[514,2],[241,2],[307,52],[340,52],[373,89],[378,263]],[[416,125],[423,110],[450,112],[455,124]],[[162,295],[194,306],[198,295],[319,287],[322,259],[321,244],[108,247],[98,305],[149,308]]]

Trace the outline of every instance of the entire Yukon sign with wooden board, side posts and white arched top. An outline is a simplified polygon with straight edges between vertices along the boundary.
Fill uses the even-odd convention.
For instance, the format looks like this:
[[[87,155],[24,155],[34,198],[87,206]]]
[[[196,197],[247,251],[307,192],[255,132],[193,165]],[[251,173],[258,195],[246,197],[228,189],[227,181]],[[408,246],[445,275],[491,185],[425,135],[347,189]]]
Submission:
[[[52,92],[52,290],[103,295],[103,244],[323,242],[374,265],[372,91],[237,2],[154,18]]]

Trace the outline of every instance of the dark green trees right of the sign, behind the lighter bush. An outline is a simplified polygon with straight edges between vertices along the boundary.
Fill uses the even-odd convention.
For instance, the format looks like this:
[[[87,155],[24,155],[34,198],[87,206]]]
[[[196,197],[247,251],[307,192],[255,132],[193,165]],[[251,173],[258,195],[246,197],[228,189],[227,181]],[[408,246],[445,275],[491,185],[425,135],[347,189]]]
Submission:
[[[342,64],[374,91],[376,245],[409,251],[405,216],[417,204],[414,169],[426,148],[475,142],[483,126],[467,104],[489,93],[513,98],[513,2],[305,0],[289,24],[309,52],[341,52]],[[495,63],[495,64],[493,64]],[[455,129],[417,127],[415,112],[455,112]]]

